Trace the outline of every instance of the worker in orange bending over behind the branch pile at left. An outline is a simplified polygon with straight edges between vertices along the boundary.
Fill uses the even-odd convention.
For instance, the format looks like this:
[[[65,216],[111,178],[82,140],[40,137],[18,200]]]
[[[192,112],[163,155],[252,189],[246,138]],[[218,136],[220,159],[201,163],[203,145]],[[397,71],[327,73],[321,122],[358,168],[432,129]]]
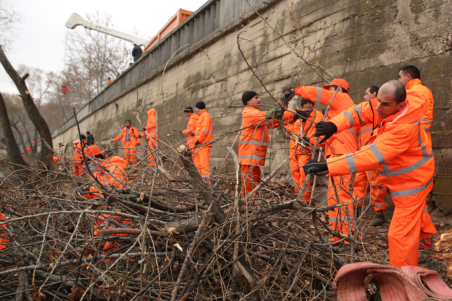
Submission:
[[[102,185],[111,187],[113,189],[126,188],[125,184],[128,183],[128,177],[124,170],[127,166],[127,162],[119,156],[111,156],[105,158],[102,153],[105,150],[100,150],[96,145],[89,145],[85,148],[85,155],[89,170],[93,173],[93,176],[99,180]],[[85,170],[85,162],[83,163]],[[105,171],[104,168],[108,171]],[[94,186],[89,188],[89,191],[96,191]],[[85,194],[86,198],[95,198],[101,196],[99,193]]]

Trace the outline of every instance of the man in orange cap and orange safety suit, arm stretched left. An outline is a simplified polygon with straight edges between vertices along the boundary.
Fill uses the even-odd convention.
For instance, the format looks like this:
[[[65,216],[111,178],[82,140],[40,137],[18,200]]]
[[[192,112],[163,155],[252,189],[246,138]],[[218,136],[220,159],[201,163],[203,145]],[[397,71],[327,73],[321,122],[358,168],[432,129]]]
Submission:
[[[330,110],[327,113],[327,120],[347,110],[349,107],[355,106],[353,100],[348,96],[348,83],[344,79],[334,79],[330,84],[324,85],[323,88],[311,87],[301,85],[294,89],[296,95],[309,99],[311,102],[320,102],[323,105],[328,105],[333,97],[334,91],[341,85],[338,93],[331,102]],[[288,92],[286,92],[288,93]],[[320,143],[325,142],[322,139]],[[344,132],[338,133],[326,141],[325,156],[327,158],[339,157],[346,153],[354,153],[358,149],[356,141],[356,132],[350,128]],[[343,235],[348,234],[348,222],[353,227],[355,220],[353,213],[353,200],[348,193],[348,187],[351,181],[351,174],[330,177],[328,185],[328,205],[348,202],[348,211],[350,214],[350,221],[346,214],[345,206],[328,211],[331,230]],[[333,185],[334,181],[334,185]],[[339,199],[336,199],[336,193]],[[339,241],[339,237],[333,237],[332,241]],[[348,242],[345,242],[348,244]]]

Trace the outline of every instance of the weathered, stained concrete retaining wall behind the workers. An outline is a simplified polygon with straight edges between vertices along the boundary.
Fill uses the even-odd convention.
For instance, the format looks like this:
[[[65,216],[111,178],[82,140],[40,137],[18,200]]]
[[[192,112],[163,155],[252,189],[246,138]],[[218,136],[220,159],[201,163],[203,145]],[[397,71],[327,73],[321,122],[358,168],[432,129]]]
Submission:
[[[190,19],[193,26],[202,26],[199,20],[206,19],[204,10],[213,12],[210,5],[220,2],[209,1],[195,12]],[[246,5],[241,1],[234,3]],[[452,94],[452,38],[449,37],[452,34],[452,0],[305,0],[294,3],[277,0],[261,4],[258,9],[264,20],[280,30],[297,53],[315,66],[325,66],[334,77],[344,77],[350,84],[350,96],[355,103],[361,101],[367,87],[396,79],[401,67],[416,65],[420,69],[421,80],[432,90],[435,99],[432,138],[438,178],[433,199],[440,209],[452,208],[452,127],[447,109]],[[200,17],[202,14],[204,17]],[[196,18],[198,23],[194,21]],[[219,15],[210,14],[209,18],[219,18]],[[274,103],[240,54],[237,46],[240,32],[243,32],[240,37],[246,39],[240,40],[246,59],[275,98],[282,89],[301,83],[316,86],[323,83],[309,66],[298,69],[301,59],[253,10],[230,19],[230,23],[208,35],[198,34],[201,40],[196,44],[205,53],[191,46],[174,56],[170,61],[173,65],[167,67],[163,76],[163,97],[161,74],[165,66],[153,63],[153,60],[161,61],[158,51],[141,70],[137,96],[133,83],[150,56],[143,57],[109,85],[104,94],[96,97],[98,103],[95,100],[85,108],[85,117],[80,121],[82,132],[90,130],[96,143],[108,144],[120,132],[124,120],[131,119],[137,126],[137,103],[141,102],[141,120],[145,122],[147,109],[155,107],[160,120],[160,138],[172,145],[175,140],[166,136],[169,124],[173,130],[182,130],[187,120],[183,119],[182,111],[170,110],[194,107],[200,100],[207,103],[207,111],[212,116],[214,137],[238,129],[242,110],[240,96],[244,91],[254,90],[264,104]],[[191,28],[190,20],[181,26]],[[186,32],[199,32],[195,28]],[[178,30],[180,28],[174,30],[174,35]],[[183,33],[179,32],[179,37],[182,39]],[[165,41],[159,45],[165,45]],[[179,42],[179,45],[183,46],[183,43]],[[177,48],[168,46],[164,50],[160,50],[160,56],[170,56]],[[329,82],[331,77],[322,73],[325,82]],[[265,110],[264,107],[261,109]],[[165,111],[168,112],[166,116]],[[68,121],[54,134],[54,145],[59,142],[68,145],[76,137],[76,126]],[[231,145],[233,140],[234,136],[231,136],[214,144],[212,170],[219,167],[226,155],[226,145]],[[287,157],[287,144],[279,134],[271,136],[267,167]],[[231,168],[228,166],[227,171]]]

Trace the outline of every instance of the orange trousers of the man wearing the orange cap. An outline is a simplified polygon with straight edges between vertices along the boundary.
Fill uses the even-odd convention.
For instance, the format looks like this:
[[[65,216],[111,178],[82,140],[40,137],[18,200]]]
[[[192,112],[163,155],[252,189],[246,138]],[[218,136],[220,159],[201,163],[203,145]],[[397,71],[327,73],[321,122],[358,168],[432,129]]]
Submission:
[[[335,208],[334,210],[328,211],[328,217],[330,220],[330,228],[334,232],[338,232],[342,235],[348,235],[348,222],[351,222],[351,229],[353,230],[353,223],[355,221],[355,216],[353,212],[353,201],[348,194],[348,187],[350,186],[351,175],[346,176],[334,176],[334,187],[331,181],[331,176],[328,184],[328,205],[334,205],[338,203],[348,202],[348,206],[342,206]],[[335,188],[335,190],[334,190]],[[336,197],[336,192],[339,200]],[[348,221],[347,211],[345,208],[348,207],[348,212],[350,214],[350,221]],[[331,241],[339,241],[339,237],[333,237]],[[344,241],[348,244],[349,242]]]

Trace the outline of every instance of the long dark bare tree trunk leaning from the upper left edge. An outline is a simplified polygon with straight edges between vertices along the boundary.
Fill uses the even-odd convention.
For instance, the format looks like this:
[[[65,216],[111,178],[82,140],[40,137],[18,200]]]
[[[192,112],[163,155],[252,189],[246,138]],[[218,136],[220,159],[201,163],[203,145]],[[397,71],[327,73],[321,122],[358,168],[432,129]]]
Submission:
[[[14,81],[17,89],[19,90],[20,97],[22,97],[22,102],[24,103],[24,107],[28,113],[28,117],[30,117],[30,120],[33,122],[34,126],[41,135],[41,139],[43,139],[51,148],[48,149],[42,142],[41,152],[39,153],[39,160],[44,162],[44,164],[46,165],[50,165],[52,161],[50,158],[53,155],[52,135],[50,134],[50,130],[46,120],[42,118],[41,114],[36,108],[36,105],[33,102],[33,98],[31,97],[30,92],[28,92],[27,85],[25,84],[25,79],[28,77],[29,74],[27,73],[24,75],[24,77],[21,78],[17,71],[13,68],[11,63],[9,63],[9,60],[6,57],[5,52],[3,52],[1,46],[0,46],[0,62],[5,68],[9,77]]]

